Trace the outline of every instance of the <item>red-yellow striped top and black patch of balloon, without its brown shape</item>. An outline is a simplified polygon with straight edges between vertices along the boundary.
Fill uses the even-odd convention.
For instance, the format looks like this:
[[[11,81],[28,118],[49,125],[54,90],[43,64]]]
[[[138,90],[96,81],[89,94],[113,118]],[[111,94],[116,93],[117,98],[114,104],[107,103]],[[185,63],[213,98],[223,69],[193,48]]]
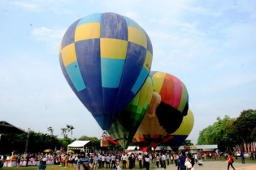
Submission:
[[[168,134],[176,131],[189,109],[189,93],[184,83],[176,76],[160,71],[150,72],[154,91],[161,96],[161,103],[156,109],[160,125]]]

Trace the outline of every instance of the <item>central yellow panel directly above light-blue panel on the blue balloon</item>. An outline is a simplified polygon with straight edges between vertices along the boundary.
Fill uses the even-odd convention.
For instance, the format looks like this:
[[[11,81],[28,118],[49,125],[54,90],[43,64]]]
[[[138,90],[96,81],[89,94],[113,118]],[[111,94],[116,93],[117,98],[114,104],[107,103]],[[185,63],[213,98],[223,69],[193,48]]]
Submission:
[[[125,59],[128,48],[127,40],[101,38],[101,57]]]

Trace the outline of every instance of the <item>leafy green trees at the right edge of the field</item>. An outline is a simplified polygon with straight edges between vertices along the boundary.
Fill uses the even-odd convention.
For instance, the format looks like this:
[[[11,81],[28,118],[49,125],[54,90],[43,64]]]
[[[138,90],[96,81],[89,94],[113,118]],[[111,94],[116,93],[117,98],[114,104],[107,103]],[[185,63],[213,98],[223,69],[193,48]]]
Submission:
[[[247,109],[239,117],[217,117],[199,133],[198,145],[217,144],[220,151],[232,151],[236,144],[256,142],[256,110]]]

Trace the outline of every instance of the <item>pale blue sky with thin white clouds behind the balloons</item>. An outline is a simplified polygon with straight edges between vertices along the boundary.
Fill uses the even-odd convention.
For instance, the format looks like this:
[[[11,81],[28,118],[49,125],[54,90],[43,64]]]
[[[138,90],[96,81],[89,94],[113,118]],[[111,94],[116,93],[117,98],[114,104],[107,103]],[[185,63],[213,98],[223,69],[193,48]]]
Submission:
[[[153,45],[151,70],[175,75],[189,91],[194,126],[256,109],[256,1],[1,0],[0,121],[63,138],[100,138],[102,129],[73,93],[59,65],[67,28],[86,15],[135,20]]]

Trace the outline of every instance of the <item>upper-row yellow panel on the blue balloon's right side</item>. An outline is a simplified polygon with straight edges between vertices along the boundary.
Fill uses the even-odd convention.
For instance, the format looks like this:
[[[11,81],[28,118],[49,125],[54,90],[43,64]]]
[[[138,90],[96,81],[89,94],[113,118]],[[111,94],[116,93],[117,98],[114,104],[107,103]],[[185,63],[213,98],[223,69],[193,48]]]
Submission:
[[[128,27],[128,41],[141,45],[147,49],[145,32],[140,29]]]

